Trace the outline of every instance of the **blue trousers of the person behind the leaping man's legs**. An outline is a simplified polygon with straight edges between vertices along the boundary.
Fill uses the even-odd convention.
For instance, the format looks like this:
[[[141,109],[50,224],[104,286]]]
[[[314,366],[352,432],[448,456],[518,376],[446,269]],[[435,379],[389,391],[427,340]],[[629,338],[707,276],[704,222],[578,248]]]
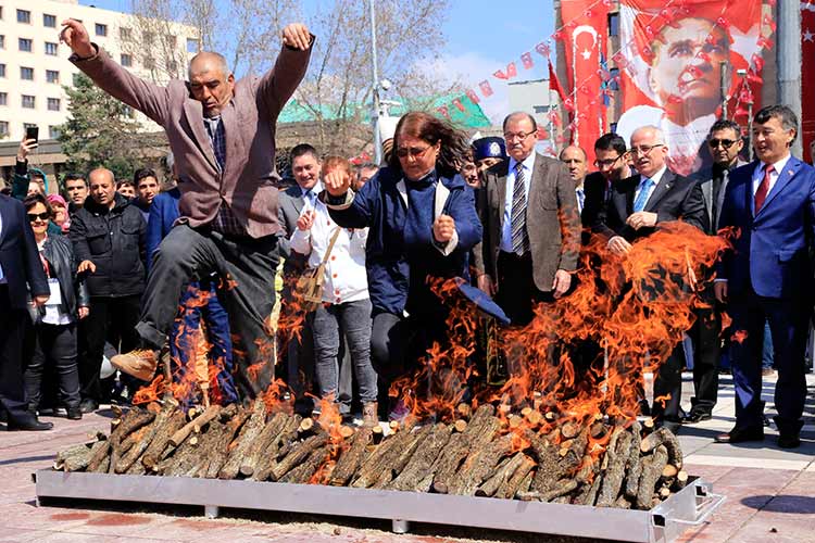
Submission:
[[[203,300],[206,296],[206,300]],[[202,303],[203,302],[203,303]],[[178,302],[179,313],[173,321],[170,340],[170,356],[175,365],[173,376],[176,382],[195,380],[187,377],[195,371],[198,329],[203,321],[204,334],[210,344],[209,359],[218,368],[217,390],[212,390],[216,403],[222,405],[238,401],[233,378],[233,342],[229,336],[229,319],[217,298],[215,285],[191,282]],[[189,379],[189,381],[188,381]],[[190,394],[188,394],[189,396]],[[185,397],[184,402],[191,402]]]

